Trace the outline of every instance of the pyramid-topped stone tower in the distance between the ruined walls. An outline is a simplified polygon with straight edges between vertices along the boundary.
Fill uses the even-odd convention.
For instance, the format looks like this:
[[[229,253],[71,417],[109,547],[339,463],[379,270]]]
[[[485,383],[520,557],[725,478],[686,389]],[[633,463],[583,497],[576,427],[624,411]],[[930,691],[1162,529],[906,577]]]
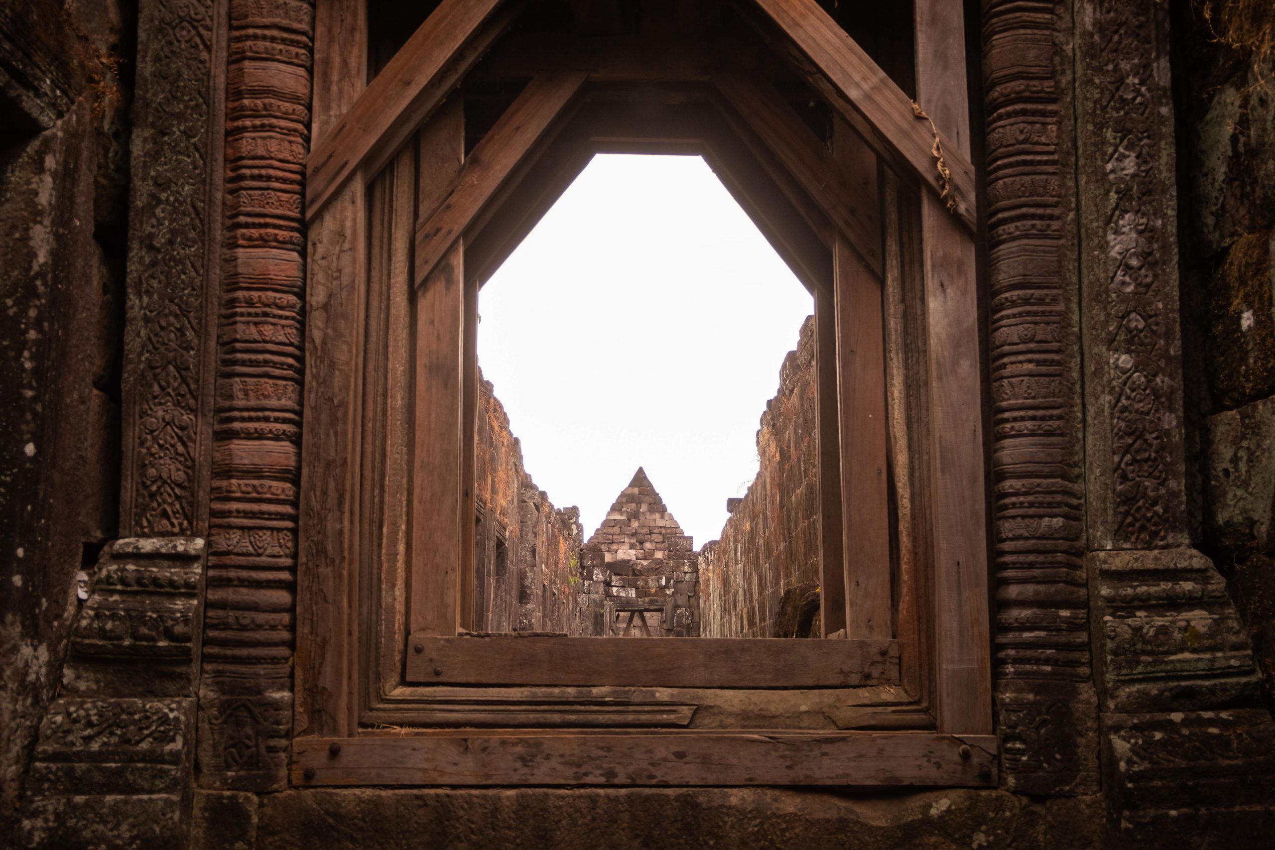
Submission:
[[[584,547],[581,632],[699,637],[699,556],[639,466]]]

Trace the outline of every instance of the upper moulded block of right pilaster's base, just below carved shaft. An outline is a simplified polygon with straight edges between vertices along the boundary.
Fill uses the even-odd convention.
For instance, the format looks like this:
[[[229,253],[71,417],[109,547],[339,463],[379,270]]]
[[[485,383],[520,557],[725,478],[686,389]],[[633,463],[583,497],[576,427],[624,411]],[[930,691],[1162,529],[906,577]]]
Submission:
[[[1089,554],[1094,666],[1104,711],[1252,705],[1252,645],[1227,582],[1195,549]]]

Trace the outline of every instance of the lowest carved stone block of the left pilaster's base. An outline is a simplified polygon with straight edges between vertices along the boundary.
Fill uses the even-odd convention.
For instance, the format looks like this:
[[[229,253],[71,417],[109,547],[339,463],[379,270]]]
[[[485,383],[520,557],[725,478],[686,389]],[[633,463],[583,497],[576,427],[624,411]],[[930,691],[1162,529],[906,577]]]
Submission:
[[[185,849],[193,698],[59,700],[40,728],[22,847]]]

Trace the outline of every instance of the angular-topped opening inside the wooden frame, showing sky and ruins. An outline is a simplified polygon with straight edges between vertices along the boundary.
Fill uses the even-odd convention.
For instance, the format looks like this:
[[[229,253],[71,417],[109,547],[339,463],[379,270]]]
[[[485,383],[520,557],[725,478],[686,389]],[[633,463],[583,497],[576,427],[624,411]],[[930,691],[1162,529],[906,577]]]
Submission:
[[[785,542],[817,524],[813,357],[790,350],[812,312],[704,157],[593,157],[478,294],[472,630],[779,636],[817,542],[723,552],[711,587],[695,543],[741,535],[728,503]]]

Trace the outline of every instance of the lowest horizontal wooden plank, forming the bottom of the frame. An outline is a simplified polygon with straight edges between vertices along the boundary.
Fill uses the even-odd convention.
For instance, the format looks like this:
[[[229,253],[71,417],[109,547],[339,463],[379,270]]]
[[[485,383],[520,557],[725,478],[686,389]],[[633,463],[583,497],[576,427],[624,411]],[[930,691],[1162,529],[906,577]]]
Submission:
[[[660,640],[660,638],[657,638]],[[996,738],[931,731],[632,730],[297,739],[292,782],[321,785],[994,786]]]

